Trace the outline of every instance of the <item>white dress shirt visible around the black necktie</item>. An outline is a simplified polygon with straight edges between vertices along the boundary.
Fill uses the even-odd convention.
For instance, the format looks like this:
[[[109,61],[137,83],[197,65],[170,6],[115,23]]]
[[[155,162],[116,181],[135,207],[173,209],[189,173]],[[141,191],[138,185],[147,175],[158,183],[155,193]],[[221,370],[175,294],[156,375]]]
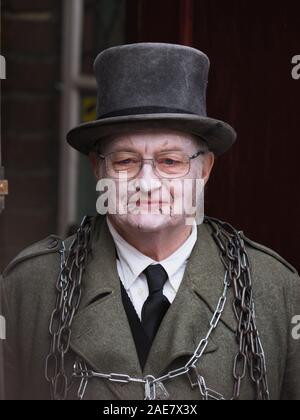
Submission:
[[[170,303],[173,303],[181,285],[188,259],[197,241],[198,230],[196,221],[193,225],[191,235],[184,244],[168,258],[158,262],[152,260],[131,246],[119,235],[108,217],[106,217],[106,220],[116,245],[119,258],[117,260],[117,269],[120,280],[123,283],[139,318],[141,319],[142,317],[142,308],[149,296],[147,278],[143,271],[151,264],[161,264],[166,270],[169,279],[164,286],[163,294]]]

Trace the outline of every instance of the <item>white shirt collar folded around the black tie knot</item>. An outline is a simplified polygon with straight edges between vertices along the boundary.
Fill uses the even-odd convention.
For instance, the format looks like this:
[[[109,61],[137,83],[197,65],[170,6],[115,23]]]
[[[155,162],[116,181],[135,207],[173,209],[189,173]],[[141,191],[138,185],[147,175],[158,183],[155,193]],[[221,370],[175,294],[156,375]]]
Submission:
[[[192,233],[187,240],[172,255],[163,261],[155,261],[142,254],[139,250],[130,245],[114,228],[109,218],[106,217],[109,231],[113,237],[121,269],[124,274],[124,285],[129,290],[141,273],[151,264],[161,264],[166,270],[171,286],[178,291],[180,281],[176,273],[187,263],[198,236],[196,221],[194,221]]]

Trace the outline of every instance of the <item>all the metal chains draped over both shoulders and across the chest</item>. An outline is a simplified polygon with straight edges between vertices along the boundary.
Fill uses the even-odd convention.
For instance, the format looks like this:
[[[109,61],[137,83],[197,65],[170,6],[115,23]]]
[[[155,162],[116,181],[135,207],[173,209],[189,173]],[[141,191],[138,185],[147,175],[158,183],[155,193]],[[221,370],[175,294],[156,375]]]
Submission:
[[[85,362],[77,360],[74,364],[72,376],[80,379],[79,399],[84,398],[88,381],[91,378],[121,384],[140,383],[145,385],[145,399],[159,398],[157,389],[160,391],[161,398],[167,399],[168,393],[163,383],[182,375],[188,375],[191,386],[199,388],[202,399],[224,399],[222,395],[206,387],[205,380],[200,376],[196,365],[208,346],[210,336],[220,322],[227,302],[229,287],[234,289],[233,310],[237,319],[236,338],[239,346],[233,364],[235,383],[232,399],[238,400],[240,398],[241,385],[246,376],[247,367],[255,385],[256,399],[269,399],[266,360],[256,327],[250,262],[245,243],[239,232],[229,224],[208,217],[205,218],[205,223],[211,226],[213,238],[220,249],[220,257],[225,267],[224,289],[211,319],[209,331],[206,337],[200,341],[192,358],[184,367],[171,371],[160,378],[148,376],[143,379],[116,373],[93,372],[88,369]],[[70,254],[67,259],[64,257],[66,251],[62,250],[61,273],[57,284],[59,294],[50,323],[52,344],[46,362],[46,378],[51,383],[54,399],[66,399],[71,386],[68,384],[64,360],[69,351],[71,324],[81,299],[82,276],[87,265],[90,249],[90,229],[91,219],[85,218],[70,247]]]

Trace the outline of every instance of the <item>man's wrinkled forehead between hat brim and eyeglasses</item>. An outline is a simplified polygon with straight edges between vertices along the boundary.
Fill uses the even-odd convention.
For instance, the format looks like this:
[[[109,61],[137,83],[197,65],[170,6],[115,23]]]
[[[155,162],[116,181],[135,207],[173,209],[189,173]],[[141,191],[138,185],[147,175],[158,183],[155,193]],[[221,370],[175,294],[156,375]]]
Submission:
[[[130,150],[140,153],[155,153],[167,150],[182,150],[193,153],[200,139],[192,134],[172,130],[149,129],[106,137],[98,145],[102,153]]]

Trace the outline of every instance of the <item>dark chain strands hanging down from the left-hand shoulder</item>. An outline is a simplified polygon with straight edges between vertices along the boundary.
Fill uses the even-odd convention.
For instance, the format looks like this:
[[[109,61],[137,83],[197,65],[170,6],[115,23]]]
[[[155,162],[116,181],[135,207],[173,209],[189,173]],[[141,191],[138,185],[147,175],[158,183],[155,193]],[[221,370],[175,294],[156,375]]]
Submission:
[[[45,366],[45,377],[50,383],[51,398],[54,400],[65,400],[72,386],[65,362],[70,350],[72,322],[81,301],[82,278],[90,251],[90,231],[91,218],[85,217],[69,250],[66,250],[64,242],[60,250],[57,299],[49,326],[51,346]]]

